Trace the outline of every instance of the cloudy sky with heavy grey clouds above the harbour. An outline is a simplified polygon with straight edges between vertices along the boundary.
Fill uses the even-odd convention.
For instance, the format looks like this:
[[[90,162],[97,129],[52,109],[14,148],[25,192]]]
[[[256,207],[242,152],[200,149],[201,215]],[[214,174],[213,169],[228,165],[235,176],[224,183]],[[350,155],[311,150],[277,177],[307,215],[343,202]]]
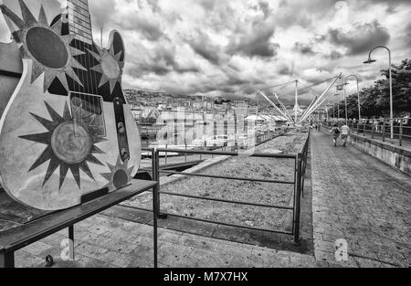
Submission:
[[[101,26],[103,43],[114,28],[125,39],[124,88],[252,98],[264,87],[294,79],[310,85],[340,72],[359,75],[366,87],[388,65],[385,50],[374,52],[377,63],[363,65],[371,48],[388,46],[394,63],[411,56],[409,0],[89,2],[96,41]],[[6,31],[1,19],[1,40]],[[279,95],[290,99],[290,92]]]

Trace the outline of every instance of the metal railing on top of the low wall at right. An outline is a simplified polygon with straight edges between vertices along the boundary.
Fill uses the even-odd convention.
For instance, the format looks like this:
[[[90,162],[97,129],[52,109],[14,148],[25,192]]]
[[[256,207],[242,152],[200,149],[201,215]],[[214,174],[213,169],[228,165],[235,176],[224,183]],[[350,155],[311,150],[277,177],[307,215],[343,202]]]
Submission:
[[[343,121],[327,122],[328,127],[332,127],[335,123],[340,125]],[[391,122],[394,123],[394,137],[391,138]],[[398,146],[411,147],[411,119],[395,118],[395,119],[370,119],[361,122],[350,120],[348,126],[352,132],[361,134],[364,137],[369,137],[382,142],[396,144]]]

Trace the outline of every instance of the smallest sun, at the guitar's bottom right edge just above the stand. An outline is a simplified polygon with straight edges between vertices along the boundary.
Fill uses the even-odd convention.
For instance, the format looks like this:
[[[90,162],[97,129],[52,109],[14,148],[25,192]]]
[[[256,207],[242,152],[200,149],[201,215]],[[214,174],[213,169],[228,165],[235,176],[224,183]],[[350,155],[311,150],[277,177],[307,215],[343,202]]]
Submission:
[[[109,184],[105,185],[105,187],[109,188],[109,191],[116,190],[132,181],[132,170],[134,166],[128,168],[128,161],[121,163],[120,156],[115,165],[107,163],[107,166],[110,169],[110,173],[100,175],[109,181]]]

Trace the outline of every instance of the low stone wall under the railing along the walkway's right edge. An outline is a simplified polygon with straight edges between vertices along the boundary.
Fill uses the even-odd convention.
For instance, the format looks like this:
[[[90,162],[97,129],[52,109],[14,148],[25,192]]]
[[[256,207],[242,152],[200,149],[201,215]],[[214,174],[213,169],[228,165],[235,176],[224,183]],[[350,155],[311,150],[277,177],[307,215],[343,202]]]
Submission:
[[[350,137],[349,143],[356,149],[374,156],[407,175],[411,175],[411,150],[356,134],[352,134]]]

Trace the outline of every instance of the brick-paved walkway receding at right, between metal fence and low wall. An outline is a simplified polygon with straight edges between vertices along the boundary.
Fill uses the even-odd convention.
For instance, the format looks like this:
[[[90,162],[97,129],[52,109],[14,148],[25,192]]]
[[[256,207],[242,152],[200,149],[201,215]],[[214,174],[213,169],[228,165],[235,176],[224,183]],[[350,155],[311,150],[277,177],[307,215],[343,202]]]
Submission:
[[[410,266],[411,178],[325,132],[312,133],[311,158],[316,259],[335,261],[344,238],[350,266]]]

